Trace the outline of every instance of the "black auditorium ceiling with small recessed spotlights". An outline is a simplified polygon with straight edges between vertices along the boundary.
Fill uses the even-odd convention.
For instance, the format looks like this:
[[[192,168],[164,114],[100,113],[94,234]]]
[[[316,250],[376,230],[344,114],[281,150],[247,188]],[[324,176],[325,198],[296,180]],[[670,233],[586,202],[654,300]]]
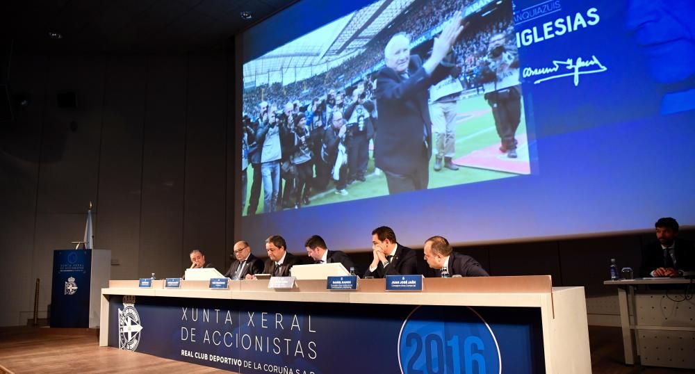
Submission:
[[[231,35],[295,1],[23,0],[3,1],[0,14],[9,16],[3,39],[25,52],[186,52],[223,48]]]

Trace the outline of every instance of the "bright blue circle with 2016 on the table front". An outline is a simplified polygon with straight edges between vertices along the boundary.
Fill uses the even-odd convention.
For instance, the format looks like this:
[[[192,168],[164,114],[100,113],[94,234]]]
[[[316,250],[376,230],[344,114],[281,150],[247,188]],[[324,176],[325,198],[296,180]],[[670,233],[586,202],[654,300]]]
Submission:
[[[495,335],[468,307],[416,307],[401,328],[398,359],[404,374],[502,373]]]

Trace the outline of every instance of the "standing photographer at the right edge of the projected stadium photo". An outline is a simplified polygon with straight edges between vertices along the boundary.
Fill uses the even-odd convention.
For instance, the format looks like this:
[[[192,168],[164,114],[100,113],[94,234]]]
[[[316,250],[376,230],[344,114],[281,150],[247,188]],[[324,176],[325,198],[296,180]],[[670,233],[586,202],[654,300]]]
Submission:
[[[521,121],[521,84],[519,84],[518,50],[507,44],[504,33],[490,37],[488,55],[480,60],[480,81],[485,99],[492,108],[495,127],[502,145],[500,152],[516,158],[516,129]]]

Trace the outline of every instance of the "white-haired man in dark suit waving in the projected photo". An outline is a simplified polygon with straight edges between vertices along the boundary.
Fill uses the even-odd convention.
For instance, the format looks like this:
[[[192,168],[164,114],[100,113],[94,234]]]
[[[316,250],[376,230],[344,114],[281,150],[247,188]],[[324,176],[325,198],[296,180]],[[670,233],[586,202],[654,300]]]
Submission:
[[[410,40],[404,33],[393,35],[384,49],[386,67],[377,75],[379,131],[375,136],[375,163],[386,174],[389,193],[427,188],[432,156],[432,121],[428,89],[450,69],[438,69],[459,33],[461,14],[456,13],[434,38],[432,55],[423,63],[410,55]]]

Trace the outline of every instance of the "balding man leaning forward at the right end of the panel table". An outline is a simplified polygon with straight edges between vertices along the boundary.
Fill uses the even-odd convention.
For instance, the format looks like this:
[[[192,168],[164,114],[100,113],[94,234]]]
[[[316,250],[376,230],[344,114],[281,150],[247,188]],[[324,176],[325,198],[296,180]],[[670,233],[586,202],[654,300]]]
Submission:
[[[432,276],[441,277],[443,270],[450,276],[489,277],[485,269],[473,257],[454,252],[443,236],[432,236],[425,241],[425,261],[434,269]]]

